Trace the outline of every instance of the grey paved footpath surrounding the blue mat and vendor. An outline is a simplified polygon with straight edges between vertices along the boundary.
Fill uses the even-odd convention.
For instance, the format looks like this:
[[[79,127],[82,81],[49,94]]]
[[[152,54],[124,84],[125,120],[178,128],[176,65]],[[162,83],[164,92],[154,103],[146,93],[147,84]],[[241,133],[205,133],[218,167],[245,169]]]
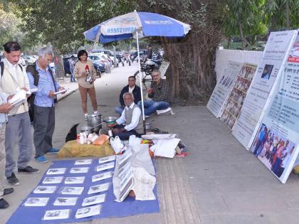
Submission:
[[[136,70],[133,63],[131,67],[115,68],[96,81],[102,114],[115,115],[113,108],[118,105],[120,89]],[[287,183],[280,183],[204,105],[172,109],[176,114],[153,114],[148,119],[152,127],[179,134],[189,148],[186,158],[155,160],[160,213],[88,223],[299,223],[297,176],[291,174]],[[76,122],[84,123],[78,91],[60,100],[56,107],[54,146],[63,146],[68,129]],[[47,158],[54,160],[56,156]],[[41,174],[18,176],[21,185],[6,197],[11,206],[0,210],[0,223],[6,222],[51,164],[32,161],[31,165],[41,169]]]

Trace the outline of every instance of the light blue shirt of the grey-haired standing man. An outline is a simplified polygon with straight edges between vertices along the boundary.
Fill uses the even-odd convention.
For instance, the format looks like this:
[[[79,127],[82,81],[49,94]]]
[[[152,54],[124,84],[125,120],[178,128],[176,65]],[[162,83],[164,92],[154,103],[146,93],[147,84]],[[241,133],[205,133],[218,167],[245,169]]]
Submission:
[[[51,68],[47,66],[46,71],[42,70],[41,68],[38,67],[38,62],[36,62],[36,70],[39,75],[38,86],[34,85],[33,75],[31,75],[31,73],[27,73],[30,88],[38,89],[35,92],[36,97],[34,99],[34,105],[39,107],[52,107],[54,105],[54,98],[48,96],[50,91],[55,92],[55,87],[49,69]],[[55,75],[54,75],[54,79],[55,79]],[[55,80],[55,85],[56,85],[56,90],[58,90],[60,86],[56,80]]]

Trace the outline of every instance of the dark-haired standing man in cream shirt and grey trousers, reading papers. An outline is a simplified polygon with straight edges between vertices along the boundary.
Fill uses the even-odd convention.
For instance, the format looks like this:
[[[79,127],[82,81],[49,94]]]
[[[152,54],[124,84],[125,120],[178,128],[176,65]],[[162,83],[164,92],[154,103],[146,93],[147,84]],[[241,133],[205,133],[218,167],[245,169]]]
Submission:
[[[4,60],[0,63],[1,90],[10,100],[19,90],[29,90],[29,82],[25,69],[18,64],[21,57],[21,46],[17,42],[4,44]],[[19,146],[18,172],[19,174],[35,174],[38,169],[28,166],[32,155],[31,126],[28,114],[27,102],[12,107],[8,113],[8,122],[5,131],[6,168],[5,176],[11,185],[19,185],[20,182],[14,174],[14,147],[16,142]]]

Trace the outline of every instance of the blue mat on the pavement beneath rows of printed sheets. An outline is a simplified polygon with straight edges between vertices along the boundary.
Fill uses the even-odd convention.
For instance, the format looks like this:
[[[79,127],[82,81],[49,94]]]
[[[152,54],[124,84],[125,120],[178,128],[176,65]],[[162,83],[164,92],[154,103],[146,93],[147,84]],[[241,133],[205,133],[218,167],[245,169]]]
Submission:
[[[38,186],[57,186],[57,189],[54,193],[31,193],[27,196],[27,198],[49,198],[46,206],[43,207],[28,207],[23,206],[23,203],[27,201],[27,198],[23,200],[19,208],[11,215],[8,222],[9,224],[23,224],[23,223],[78,223],[83,221],[93,220],[95,218],[112,218],[112,217],[125,217],[130,215],[137,215],[142,213],[158,213],[159,212],[159,201],[157,197],[157,185],[154,187],[154,195],[156,196],[156,200],[153,201],[135,201],[135,198],[127,197],[125,201],[122,203],[115,202],[115,196],[113,194],[112,187],[112,177],[106,178],[101,181],[92,182],[92,176],[96,174],[102,174],[107,171],[114,171],[113,169],[108,169],[105,171],[96,171],[96,166],[98,166],[98,159],[93,159],[91,164],[88,165],[74,165],[76,160],[61,160],[61,161],[53,161],[53,164],[49,169],[53,168],[66,168],[65,174],[56,174],[56,175],[48,175],[47,172],[41,178],[41,181],[38,183]],[[115,162],[115,161],[114,161]],[[86,167],[89,166],[88,173],[85,174],[70,174],[70,169],[73,167]],[[54,177],[54,176],[64,176],[63,182],[58,184],[43,184],[43,179],[45,177]],[[78,184],[65,184],[65,177],[69,176],[85,176],[84,183]],[[102,183],[111,183],[108,191],[103,191],[101,193],[89,194],[88,190],[90,186],[99,185]],[[84,187],[84,191],[80,195],[65,195],[60,193],[60,188],[63,186],[76,186],[76,187]],[[33,189],[34,190],[34,189]],[[100,211],[100,215],[94,215],[88,218],[75,218],[75,213],[78,208],[83,208],[82,203],[84,198],[90,196],[96,196],[99,194],[106,193],[106,198],[104,203],[100,203],[102,205],[102,210]],[[78,197],[78,200],[75,206],[53,206],[54,201],[58,197]],[[43,220],[43,216],[46,210],[61,210],[61,209],[70,209],[70,215],[66,219],[60,220]]]

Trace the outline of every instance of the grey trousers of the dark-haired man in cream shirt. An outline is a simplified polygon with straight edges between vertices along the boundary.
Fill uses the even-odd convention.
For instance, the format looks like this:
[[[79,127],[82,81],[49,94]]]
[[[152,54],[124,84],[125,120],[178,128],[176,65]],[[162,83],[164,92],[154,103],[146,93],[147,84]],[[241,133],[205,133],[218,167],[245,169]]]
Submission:
[[[18,168],[28,165],[32,156],[31,125],[28,112],[9,116],[5,131],[6,166],[5,176],[11,176],[16,162],[14,161],[14,147],[19,143]]]

